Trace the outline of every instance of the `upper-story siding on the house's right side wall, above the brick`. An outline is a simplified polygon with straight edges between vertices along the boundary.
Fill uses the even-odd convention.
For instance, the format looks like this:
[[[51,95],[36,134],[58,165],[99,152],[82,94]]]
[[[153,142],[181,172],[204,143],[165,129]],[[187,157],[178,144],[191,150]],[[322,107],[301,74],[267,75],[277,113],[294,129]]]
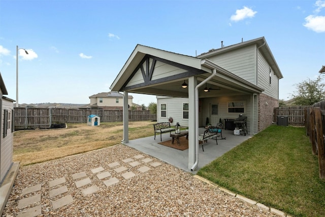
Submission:
[[[274,71],[270,68],[266,59],[262,54],[257,56],[257,86],[262,87],[265,91],[263,94],[278,99],[279,79],[274,75]],[[270,69],[271,69],[271,84],[270,84]]]

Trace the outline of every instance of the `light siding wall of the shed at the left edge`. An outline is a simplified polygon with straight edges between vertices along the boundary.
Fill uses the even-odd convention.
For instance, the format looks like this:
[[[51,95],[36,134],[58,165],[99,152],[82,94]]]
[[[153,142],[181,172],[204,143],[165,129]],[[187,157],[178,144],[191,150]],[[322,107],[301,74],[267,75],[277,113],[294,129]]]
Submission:
[[[1,126],[1,156],[0,156],[0,182],[3,181],[7,172],[9,171],[12,162],[13,162],[13,132],[12,126],[10,129],[7,130],[7,136],[3,137],[4,135],[4,109],[8,110],[8,114],[10,113],[10,119],[12,120],[12,113],[13,113],[13,102],[3,100],[3,107],[2,107],[2,126]],[[10,123],[11,125],[11,123]]]

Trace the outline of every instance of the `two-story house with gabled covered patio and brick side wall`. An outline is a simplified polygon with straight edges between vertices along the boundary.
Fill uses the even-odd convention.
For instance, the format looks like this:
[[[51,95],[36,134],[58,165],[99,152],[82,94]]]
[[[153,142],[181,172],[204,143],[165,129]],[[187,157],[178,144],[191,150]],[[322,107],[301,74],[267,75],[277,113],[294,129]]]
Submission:
[[[247,116],[248,134],[272,124],[278,107],[282,73],[264,37],[187,56],[137,45],[111,85],[123,91],[156,95],[157,121],[188,126],[188,168],[198,165],[198,129],[219,120]],[[184,85],[185,84],[185,85]],[[128,119],[123,109],[123,143],[128,142]]]

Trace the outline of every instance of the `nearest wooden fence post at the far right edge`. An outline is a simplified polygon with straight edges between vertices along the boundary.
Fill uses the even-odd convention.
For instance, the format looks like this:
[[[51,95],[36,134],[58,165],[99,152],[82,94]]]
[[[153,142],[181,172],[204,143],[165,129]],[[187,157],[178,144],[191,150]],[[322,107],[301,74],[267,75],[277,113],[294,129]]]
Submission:
[[[325,179],[325,149],[323,138],[323,127],[321,122],[321,112],[319,107],[314,108],[315,124],[318,144],[318,164],[319,164],[319,178]]]

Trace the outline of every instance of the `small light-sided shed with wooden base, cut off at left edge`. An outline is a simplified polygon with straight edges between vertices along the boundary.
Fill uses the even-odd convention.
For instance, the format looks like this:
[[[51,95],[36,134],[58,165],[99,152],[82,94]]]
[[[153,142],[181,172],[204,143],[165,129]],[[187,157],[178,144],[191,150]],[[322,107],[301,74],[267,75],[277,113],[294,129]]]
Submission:
[[[0,74],[0,214],[5,208],[19,168],[19,163],[13,163],[13,110],[15,101],[4,95],[8,95],[8,92]]]

